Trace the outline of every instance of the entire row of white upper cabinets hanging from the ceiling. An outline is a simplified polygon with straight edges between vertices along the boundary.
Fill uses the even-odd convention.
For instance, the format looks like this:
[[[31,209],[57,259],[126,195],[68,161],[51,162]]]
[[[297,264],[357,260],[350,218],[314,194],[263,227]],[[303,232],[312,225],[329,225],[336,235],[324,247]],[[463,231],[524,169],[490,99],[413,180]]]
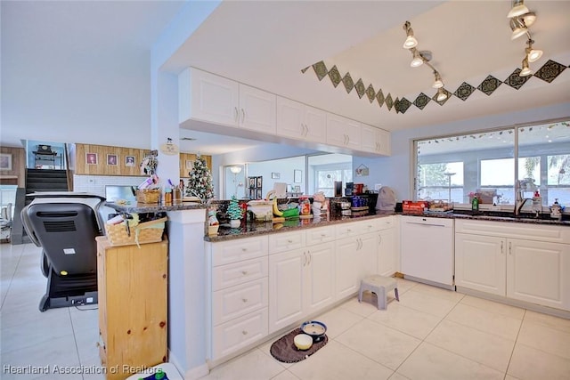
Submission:
[[[315,150],[330,145],[346,154],[390,155],[387,131],[194,68],[178,76],[178,123],[186,121],[190,129],[202,132],[298,142]]]

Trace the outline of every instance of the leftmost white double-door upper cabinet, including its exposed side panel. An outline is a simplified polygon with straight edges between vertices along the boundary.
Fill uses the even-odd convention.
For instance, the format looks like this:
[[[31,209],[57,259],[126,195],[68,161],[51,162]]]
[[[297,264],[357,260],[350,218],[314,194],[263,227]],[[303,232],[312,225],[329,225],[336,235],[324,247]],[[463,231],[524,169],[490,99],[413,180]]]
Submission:
[[[199,69],[178,77],[178,122],[190,118],[275,133],[275,101],[267,93]]]

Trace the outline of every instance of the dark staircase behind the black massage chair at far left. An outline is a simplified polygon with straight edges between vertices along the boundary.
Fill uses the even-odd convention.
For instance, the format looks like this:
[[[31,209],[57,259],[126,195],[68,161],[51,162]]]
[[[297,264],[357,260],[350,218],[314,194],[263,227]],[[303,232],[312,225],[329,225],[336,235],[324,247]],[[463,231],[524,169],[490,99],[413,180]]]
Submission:
[[[40,191],[69,191],[68,178],[65,170],[26,169],[26,189],[16,192],[16,205],[12,222],[11,241],[13,245],[30,243],[30,239],[21,223],[21,210],[28,206],[34,197],[26,194]]]

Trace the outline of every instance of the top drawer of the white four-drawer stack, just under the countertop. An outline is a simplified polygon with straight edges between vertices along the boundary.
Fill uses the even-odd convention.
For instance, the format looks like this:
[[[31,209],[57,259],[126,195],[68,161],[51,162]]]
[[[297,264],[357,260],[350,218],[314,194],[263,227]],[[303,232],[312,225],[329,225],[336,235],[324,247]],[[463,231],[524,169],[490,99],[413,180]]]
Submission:
[[[211,243],[212,265],[237,263],[267,255],[267,237]]]

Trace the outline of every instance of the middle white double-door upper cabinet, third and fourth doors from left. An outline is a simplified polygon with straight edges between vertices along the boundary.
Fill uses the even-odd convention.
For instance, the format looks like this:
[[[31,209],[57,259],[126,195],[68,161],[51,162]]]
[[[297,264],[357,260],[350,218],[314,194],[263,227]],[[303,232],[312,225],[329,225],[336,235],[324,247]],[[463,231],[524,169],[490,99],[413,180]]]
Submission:
[[[277,97],[277,134],[301,141],[326,141],[327,113]]]

